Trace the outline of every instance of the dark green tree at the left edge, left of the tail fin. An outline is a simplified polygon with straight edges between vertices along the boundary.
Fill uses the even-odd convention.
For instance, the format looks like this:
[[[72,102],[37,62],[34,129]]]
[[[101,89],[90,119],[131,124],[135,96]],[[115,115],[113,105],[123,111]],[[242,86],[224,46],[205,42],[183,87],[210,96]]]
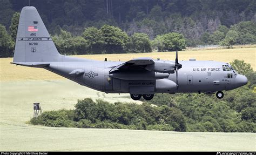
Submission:
[[[14,42],[8,35],[5,27],[0,24],[0,57],[12,57]]]

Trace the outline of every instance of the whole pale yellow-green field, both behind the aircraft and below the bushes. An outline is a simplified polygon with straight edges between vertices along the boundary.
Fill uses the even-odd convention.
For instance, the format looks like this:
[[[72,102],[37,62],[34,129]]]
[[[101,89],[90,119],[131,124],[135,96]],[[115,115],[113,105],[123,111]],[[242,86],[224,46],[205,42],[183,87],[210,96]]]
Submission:
[[[256,48],[182,51],[180,60],[196,58],[231,62],[244,59],[255,70]],[[207,55],[207,56],[206,56]],[[174,52],[79,56],[98,60],[135,57],[174,59]],[[74,129],[33,126],[33,103],[43,111],[73,109],[77,99],[133,102],[127,94],[105,94],[43,69],[0,59],[0,151],[256,151],[255,133],[165,132],[113,129]],[[138,104],[141,102],[137,102]],[[216,103],[218,104],[218,103]]]

